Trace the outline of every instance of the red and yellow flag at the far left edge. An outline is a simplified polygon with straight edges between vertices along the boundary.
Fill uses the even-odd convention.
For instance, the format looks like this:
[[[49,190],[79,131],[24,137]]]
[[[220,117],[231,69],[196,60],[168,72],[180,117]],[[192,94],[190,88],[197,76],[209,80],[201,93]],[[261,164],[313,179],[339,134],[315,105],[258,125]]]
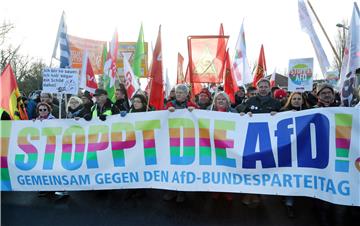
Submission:
[[[15,74],[8,64],[0,77],[0,107],[9,113],[11,119],[28,120],[24,103],[21,100]]]

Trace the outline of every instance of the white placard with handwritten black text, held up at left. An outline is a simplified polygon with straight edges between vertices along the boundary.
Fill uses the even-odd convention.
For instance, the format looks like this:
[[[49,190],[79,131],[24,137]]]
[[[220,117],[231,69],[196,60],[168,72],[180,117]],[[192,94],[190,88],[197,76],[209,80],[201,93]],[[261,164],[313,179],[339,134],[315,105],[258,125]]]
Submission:
[[[44,68],[43,92],[78,94],[79,70],[72,68]]]

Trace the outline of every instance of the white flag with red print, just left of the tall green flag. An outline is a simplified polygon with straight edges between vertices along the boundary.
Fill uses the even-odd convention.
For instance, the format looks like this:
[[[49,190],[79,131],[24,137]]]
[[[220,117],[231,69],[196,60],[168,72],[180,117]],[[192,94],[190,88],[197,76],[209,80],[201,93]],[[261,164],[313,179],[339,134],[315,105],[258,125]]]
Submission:
[[[123,53],[125,88],[129,98],[131,98],[140,89],[138,79],[135,77],[135,74],[129,63],[130,57],[131,53]]]

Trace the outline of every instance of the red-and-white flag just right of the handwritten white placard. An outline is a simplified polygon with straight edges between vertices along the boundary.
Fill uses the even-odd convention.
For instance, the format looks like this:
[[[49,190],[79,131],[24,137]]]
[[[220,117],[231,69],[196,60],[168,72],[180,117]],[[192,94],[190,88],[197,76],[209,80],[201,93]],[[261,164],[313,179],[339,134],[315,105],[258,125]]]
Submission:
[[[90,62],[89,52],[87,50],[83,53],[80,88],[83,88],[90,93],[95,93],[95,90],[98,88],[95,73]]]

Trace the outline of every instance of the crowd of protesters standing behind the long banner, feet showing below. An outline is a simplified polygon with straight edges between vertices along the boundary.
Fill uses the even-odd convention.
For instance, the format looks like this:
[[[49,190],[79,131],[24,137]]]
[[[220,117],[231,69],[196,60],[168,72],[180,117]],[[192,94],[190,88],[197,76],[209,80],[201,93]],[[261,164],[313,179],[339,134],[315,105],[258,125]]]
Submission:
[[[238,87],[234,95],[234,103],[231,103],[229,96],[222,91],[222,87],[213,89],[202,88],[196,95],[191,95],[190,88],[185,84],[174,87],[164,100],[164,109],[174,112],[177,109],[210,110],[219,112],[237,113],[240,115],[265,113],[275,115],[282,111],[302,111],[311,108],[336,107],[340,106],[341,100],[339,93],[329,84],[314,84],[311,92],[288,92],[284,88],[271,87],[267,79],[258,81],[257,86]],[[351,106],[359,106],[360,90],[354,90],[354,98]],[[191,97],[194,97],[193,99]],[[40,91],[32,92],[28,97],[21,99],[25,104],[29,119],[48,120],[55,118],[80,119],[87,121],[93,118],[106,120],[110,115],[120,114],[122,117],[128,113],[147,112],[154,110],[148,105],[146,92],[139,91],[132,98],[127,96],[126,88],[120,84],[114,96],[114,101],[110,99],[104,89],[97,89],[94,94],[80,92],[77,96],[67,97],[68,101],[58,100],[52,94]],[[1,120],[10,120],[9,115],[0,109]],[[129,196],[136,197],[144,195],[145,190],[138,189],[129,192]],[[186,192],[166,191],[163,199],[166,201],[184,202]],[[67,196],[64,192],[40,193],[40,196]],[[213,198],[219,198],[221,193],[212,193]],[[223,193],[223,197],[232,201],[230,193]],[[242,203],[244,205],[258,205],[261,202],[260,195],[244,194]],[[284,197],[284,205],[289,217],[295,217],[294,198]],[[330,225],[330,217],[334,215],[337,225],[341,221],[346,211],[345,206],[330,204],[317,200],[316,207],[322,225]]]

